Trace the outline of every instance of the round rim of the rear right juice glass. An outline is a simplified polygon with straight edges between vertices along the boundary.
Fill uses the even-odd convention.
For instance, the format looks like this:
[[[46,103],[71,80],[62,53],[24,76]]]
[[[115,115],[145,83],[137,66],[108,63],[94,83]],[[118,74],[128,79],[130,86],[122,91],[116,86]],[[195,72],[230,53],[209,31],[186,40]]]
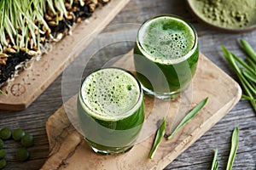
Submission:
[[[160,63],[162,65],[169,65],[169,64],[172,65],[172,64],[177,64],[177,63],[180,63],[180,62],[188,59],[189,56],[191,56],[192,54],[195,53],[195,50],[198,47],[197,33],[195,31],[195,27],[192,26],[191,23],[189,23],[189,21],[187,21],[187,20],[183,19],[182,17],[179,17],[179,16],[177,16],[175,14],[160,14],[160,15],[156,15],[154,17],[151,17],[148,20],[145,20],[143,22],[143,24],[139,27],[138,31],[137,31],[137,41],[136,41],[136,43],[137,43],[138,48],[140,48],[140,50],[143,53],[143,55],[148,59],[148,55],[150,55],[150,54],[148,54],[148,52],[143,48],[143,45],[140,42],[140,39],[139,39],[140,31],[142,30],[143,26],[145,26],[149,21],[154,20],[154,19],[158,19],[158,18],[161,18],[161,17],[170,17],[170,18],[174,18],[176,20],[181,20],[185,25],[189,26],[189,28],[193,31],[193,34],[194,34],[194,37],[195,37],[195,41],[194,41],[194,44],[193,44],[192,48],[189,49],[189,52],[187,54],[183,55],[182,57],[177,58],[177,59],[169,59],[168,63],[167,62],[160,62],[160,61],[154,61],[154,62],[155,63]]]

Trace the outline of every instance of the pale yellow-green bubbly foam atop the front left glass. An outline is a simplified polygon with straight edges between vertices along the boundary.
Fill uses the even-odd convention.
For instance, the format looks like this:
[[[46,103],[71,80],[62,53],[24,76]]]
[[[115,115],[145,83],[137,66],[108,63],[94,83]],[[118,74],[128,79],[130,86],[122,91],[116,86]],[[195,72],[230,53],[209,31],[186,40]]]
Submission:
[[[134,113],[133,107],[140,99],[140,87],[130,73],[105,68],[84,79],[81,96],[90,116],[117,121]]]

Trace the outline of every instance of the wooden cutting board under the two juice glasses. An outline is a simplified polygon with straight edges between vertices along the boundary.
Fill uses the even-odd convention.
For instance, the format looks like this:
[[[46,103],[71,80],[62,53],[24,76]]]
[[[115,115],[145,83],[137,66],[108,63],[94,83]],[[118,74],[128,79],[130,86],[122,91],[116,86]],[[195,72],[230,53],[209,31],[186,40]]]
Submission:
[[[132,53],[125,55],[115,65],[133,70]],[[225,116],[241,98],[240,86],[216,65],[200,54],[198,69],[187,90],[177,99],[159,100],[146,96],[146,122],[150,115],[161,115],[166,111],[167,133],[183,118],[189,108],[208,97],[205,107],[170,140],[163,139],[152,160],[148,153],[154,141],[154,133],[136,144],[129,152],[115,156],[101,156],[94,153],[83,137],[69,122],[65,110],[76,112],[76,97],[49,117],[46,130],[49,138],[49,158],[42,169],[163,169],[191,144]],[[184,98],[185,96],[185,98]],[[190,97],[189,97],[190,96]],[[181,102],[188,99],[188,101]],[[189,99],[191,99],[189,101]],[[168,106],[166,110],[166,105]],[[184,109],[186,108],[186,109]],[[156,129],[162,116],[145,124],[143,133]],[[155,131],[154,131],[155,132]]]

